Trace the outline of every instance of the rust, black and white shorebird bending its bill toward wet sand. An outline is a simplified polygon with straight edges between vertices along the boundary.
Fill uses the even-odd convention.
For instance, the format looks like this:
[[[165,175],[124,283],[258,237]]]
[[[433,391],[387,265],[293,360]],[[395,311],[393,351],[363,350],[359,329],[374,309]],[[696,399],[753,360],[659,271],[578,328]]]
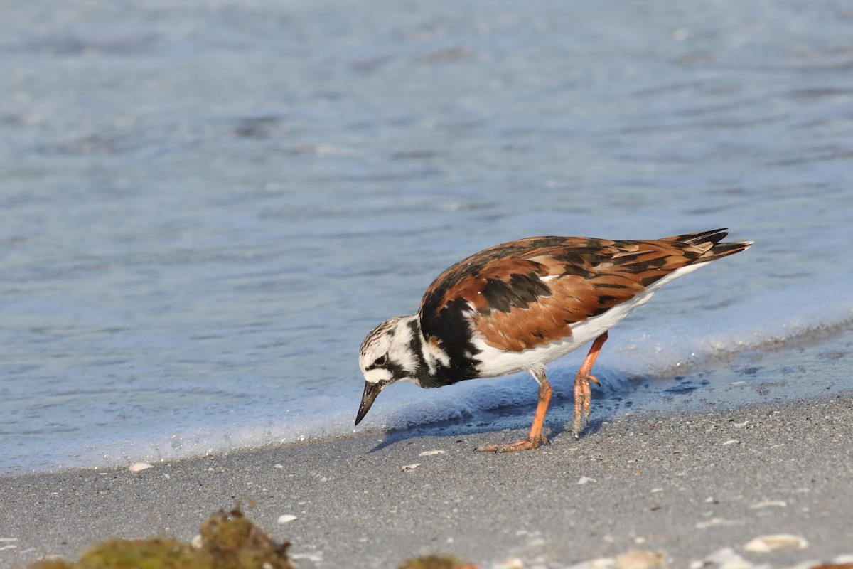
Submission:
[[[572,433],[579,437],[608,330],[667,282],[752,245],[722,241],[726,235],[724,228],[634,241],[527,237],[463,258],[435,278],[416,314],[394,316],[364,339],[356,425],[397,381],[431,388],[526,371],[539,386],[530,434],[477,450],[535,449],[548,444],[546,365],[592,342],[574,381]]]

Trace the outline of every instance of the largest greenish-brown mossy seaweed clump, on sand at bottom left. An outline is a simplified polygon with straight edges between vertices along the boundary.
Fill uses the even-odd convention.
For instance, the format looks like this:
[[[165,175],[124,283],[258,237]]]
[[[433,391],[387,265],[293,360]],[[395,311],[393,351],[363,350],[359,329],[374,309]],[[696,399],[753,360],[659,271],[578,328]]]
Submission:
[[[165,537],[111,539],[75,563],[41,560],[30,569],[293,569],[290,543],[276,543],[243,516],[219,510],[201,525],[200,547]]]

